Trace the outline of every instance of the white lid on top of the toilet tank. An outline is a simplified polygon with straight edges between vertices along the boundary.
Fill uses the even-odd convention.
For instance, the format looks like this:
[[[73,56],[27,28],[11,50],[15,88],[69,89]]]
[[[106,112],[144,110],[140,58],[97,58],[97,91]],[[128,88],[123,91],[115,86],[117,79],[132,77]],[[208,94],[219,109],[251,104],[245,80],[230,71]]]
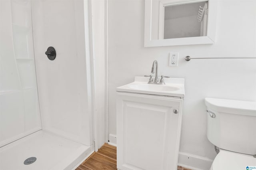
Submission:
[[[256,116],[256,102],[205,98],[208,109],[237,115]]]

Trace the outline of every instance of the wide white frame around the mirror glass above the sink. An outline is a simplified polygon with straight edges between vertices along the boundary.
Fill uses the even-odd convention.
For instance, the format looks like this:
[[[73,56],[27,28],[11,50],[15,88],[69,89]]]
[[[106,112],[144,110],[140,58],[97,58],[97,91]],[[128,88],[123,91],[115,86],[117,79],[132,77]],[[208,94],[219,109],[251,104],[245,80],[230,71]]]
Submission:
[[[152,40],[152,1],[145,0],[145,32],[144,47],[159,47],[172,45],[192,45],[192,44],[213,44],[215,42],[216,18],[217,18],[217,0],[208,0],[208,19],[206,36],[172,38]],[[203,2],[205,0],[161,0],[160,4],[188,4],[194,2]],[[161,16],[160,16],[161,17]]]

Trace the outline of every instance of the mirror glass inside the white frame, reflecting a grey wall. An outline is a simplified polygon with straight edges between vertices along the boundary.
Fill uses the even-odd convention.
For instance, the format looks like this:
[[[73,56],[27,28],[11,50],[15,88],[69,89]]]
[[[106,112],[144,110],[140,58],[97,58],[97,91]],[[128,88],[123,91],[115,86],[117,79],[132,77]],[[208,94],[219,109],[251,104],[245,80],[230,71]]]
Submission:
[[[156,16],[152,16],[153,40],[206,36],[208,1],[174,4],[160,0],[153,3],[156,5],[152,4],[152,14]]]

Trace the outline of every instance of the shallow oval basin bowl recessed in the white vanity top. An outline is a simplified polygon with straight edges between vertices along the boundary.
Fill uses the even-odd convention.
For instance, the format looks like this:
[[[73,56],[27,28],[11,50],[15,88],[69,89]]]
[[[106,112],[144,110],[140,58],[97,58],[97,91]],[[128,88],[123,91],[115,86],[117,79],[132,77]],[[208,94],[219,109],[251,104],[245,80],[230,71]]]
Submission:
[[[128,86],[131,89],[146,90],[146,91],[176,91],[176,90],[180,90],[180,88],[170,86],[170,85],[154,85],[154,84],[148,84],[148,83],[131,84]]]

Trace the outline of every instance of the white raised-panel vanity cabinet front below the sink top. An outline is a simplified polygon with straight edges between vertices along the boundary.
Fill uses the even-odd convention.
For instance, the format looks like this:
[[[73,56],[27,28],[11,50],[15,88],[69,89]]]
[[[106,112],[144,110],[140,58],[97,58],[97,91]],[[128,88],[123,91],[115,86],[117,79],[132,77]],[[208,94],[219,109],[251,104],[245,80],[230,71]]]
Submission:
[[[176,170],[182,99],[131,93],[117,96],[117,168]]]

